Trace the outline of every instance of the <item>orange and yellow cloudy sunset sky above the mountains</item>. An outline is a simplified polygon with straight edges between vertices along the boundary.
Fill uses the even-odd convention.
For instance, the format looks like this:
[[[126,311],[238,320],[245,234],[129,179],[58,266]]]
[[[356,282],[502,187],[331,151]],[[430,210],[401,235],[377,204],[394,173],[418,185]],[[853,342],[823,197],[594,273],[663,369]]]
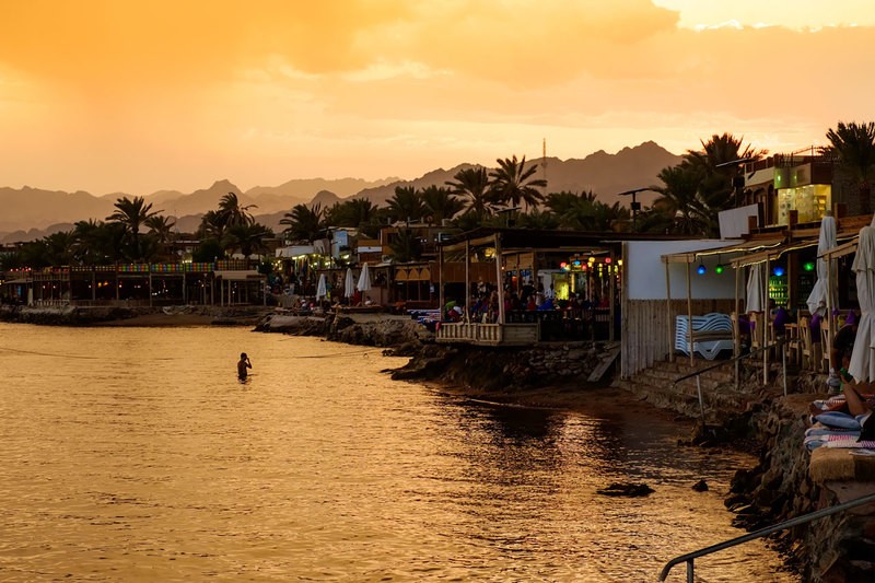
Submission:
[[[0,186],[413,178],[875,119],[868,0],[0,0]]]

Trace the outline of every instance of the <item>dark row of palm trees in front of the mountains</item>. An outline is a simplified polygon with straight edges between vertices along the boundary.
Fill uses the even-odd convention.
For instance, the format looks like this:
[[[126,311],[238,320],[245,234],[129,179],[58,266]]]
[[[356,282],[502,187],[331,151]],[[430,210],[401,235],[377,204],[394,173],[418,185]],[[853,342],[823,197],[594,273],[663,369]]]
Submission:
[[[853,176],[860,211],[871,213],[875,124],[839,121],[826,138],[829,145],[820,153],[832,156]],[[719,213],[739,203],[740,161],[757,161],[768,152],[745,144],[732,133],[714,135],[701,145],[701,150],[688,150],[679,164],[658,173],[661,184],[650,188],[657,198],[634,218],[629,208],[602,202],[593,191],[548,194],[547,182],[537,177],[538,164],[526,164],[525,156],[518,160],[513,155],[498,159],[493,170],[460,170],[443,186],[398,186],[385,207],[364,198],[326,209],[318,203],[296,205],[280,221],[285,228],[281,234],[287,241],[310,243],[327,236],[331,228],[352,228],[362,236],[376,238],[387,224],[429,223],[462,231],[513,224],[520,229],[595,232],[634,228],[641,233],[714,237],[719,236]],[[199,241],[194,260],[267,250],[266,240],[276,234],[255,220],[254,208],[241,205],[233,193],[223,196],[218,208],[207,211],[197,232],[189,235]],[[119,198],[115,209],[105,221],[79,221],[71,231],[23,244],[15,254],[2,258],[2,268],[177,260],[171,244],[180,234],[174,231],[174,221],[161,214],[163,211],[153,210],[143,197]],[[417,259],[422,252],[419,237],[404,228],[390,248],[398,261]]]

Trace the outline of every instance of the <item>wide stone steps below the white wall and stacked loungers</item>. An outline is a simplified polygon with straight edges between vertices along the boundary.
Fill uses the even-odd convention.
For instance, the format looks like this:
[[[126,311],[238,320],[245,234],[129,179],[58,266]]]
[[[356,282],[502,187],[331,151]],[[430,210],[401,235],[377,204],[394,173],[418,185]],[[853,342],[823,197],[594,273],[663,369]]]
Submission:
[[[657,362],[631,378],[616,378],[611,386],[628,390],[655,407],[699,418],[701,409],[696,378],[688,378],[677,385],[674,381],[713,364],[711,361],[697,361],[691,366],[688,359]],[[736,390],[734,364],[727,363],[721,369],[702,373],[700,384],[708,421],[718,422],[727,415],[743,412],[750,401],[757,400],[760,395],[755,381],[756,374],[755,368],[743,364],[740,389]]]

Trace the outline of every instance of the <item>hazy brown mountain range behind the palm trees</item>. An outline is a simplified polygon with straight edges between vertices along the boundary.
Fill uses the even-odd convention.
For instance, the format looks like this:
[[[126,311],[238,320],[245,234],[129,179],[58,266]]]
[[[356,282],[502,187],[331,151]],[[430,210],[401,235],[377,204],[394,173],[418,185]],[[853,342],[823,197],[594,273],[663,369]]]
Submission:
[[[530,162],[539,164],[537,176],[547,178],[549,193],[593,191],[603,202],[612,205],[619,201],[628,206],[628,197],[620,197],[618,193],[657,184],[660,171],[678,164],[680,160],[681,156],[650,141],[634,148],[623,148],[616,154],[599,150],[582,160],[539,158]],[[234,193],[241,205],[254,206],[250,212],[258,222],[280,231],[280,219],[295,205],[319,203],[322,208],[328,208],[346,199],[366,198],[374,205],[385,206],[396,187],[445,186],[459,170],[471,165],[434,170],[412,180],[395,177],[381,180],[293,179],[279,186],[256,186],[246,191],[228,179],[221,179],[209,188],[194,193],[159,190],[145,195],[145,200],[152,203],[152,210],[175,218],[179,232],[190,233],[197,230],[200,217],[206,211],[217,209],[224,195]],[[82,190],[66,193],[30,186],[18,189],[0,187],[0,208],[3,209],[0,214],[0,243],[33,241],[58,231],[68,231],[81,220],[106,220],[115,210],[116,200],[124,196],[132,198],[133,195],[113,193],[94,196]],[[654,197],[654,194],[642,193],[639,200],[648,205]]]

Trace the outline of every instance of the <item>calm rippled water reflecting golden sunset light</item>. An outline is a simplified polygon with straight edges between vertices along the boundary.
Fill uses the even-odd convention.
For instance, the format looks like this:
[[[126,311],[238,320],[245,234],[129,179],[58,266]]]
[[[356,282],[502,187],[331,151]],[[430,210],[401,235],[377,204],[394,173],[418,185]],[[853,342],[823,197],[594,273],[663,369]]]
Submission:
[[[751,459],[678,448],[657,418],[381,373],[402,363],[244,329],[0,324],[0,580],[655,581],[743,534],[723,497]],[[620,480],[656,492],[595,493]],[[795,581],[779,568],[754,544],[697,575]]]

